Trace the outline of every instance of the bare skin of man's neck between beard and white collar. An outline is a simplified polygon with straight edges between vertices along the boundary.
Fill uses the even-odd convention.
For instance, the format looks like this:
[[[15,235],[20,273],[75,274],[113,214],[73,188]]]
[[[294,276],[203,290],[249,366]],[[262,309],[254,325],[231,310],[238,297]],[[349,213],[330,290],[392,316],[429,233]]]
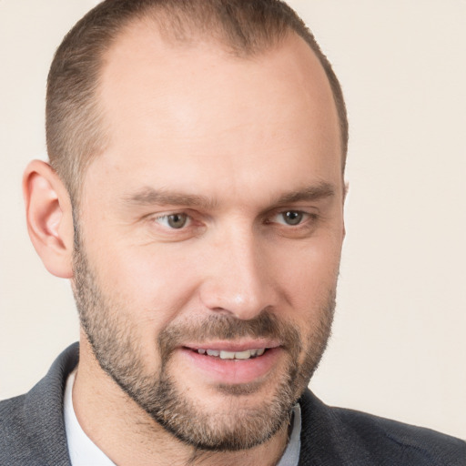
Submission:
[[[118,466],[273,466],[288,441],[288,420],[269,441],[247,451],[197,451],[152,420],[98,365],[81,336],[73,406],[86,435]]]

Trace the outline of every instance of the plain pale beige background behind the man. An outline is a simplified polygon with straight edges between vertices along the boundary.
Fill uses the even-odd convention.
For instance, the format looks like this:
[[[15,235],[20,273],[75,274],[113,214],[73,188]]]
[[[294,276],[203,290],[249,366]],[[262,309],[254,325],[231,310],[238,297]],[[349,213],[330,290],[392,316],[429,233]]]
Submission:
[[[25,231],[20,181],[46,157],[46,73],[91,0],[0,0],[0,399],[77,338],[69,286]],[[329,404],[466,438],[466,1],[295,0],[343,84],[348,236]]]

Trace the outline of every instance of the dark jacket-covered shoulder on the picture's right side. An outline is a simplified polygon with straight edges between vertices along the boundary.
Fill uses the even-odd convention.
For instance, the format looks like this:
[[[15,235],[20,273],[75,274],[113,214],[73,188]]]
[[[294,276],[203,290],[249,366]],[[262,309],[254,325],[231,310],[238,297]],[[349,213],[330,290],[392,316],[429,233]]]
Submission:
[[[466,466],[466,442],[460,439],[356,410],[331,408],[310,392],[300,403],[303,448],[311,447],[309,440],[326,444],[320,454],[330,450],[344,464]]]

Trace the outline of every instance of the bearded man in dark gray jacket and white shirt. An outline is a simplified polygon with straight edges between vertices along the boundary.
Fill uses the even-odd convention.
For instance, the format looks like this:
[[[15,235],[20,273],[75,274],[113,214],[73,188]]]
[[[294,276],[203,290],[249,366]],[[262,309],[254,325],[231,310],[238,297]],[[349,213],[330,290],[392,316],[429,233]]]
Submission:
[[[464,464],[466,444],[323,405],[344,238],[337,78],[273,0],[113,0],[66,36],[30,237],[81,321],[0,405],[6,464]]]

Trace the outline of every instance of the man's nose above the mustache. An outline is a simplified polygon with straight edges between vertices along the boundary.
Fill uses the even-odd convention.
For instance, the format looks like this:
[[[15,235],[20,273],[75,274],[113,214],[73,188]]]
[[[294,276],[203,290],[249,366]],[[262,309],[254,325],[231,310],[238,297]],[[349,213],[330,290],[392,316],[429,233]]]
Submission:
[[[208,250],[200,299],[211,311],[254,319],[275,307],[277,289],[268,267],[267,242],[247,228],[229,229]]]

